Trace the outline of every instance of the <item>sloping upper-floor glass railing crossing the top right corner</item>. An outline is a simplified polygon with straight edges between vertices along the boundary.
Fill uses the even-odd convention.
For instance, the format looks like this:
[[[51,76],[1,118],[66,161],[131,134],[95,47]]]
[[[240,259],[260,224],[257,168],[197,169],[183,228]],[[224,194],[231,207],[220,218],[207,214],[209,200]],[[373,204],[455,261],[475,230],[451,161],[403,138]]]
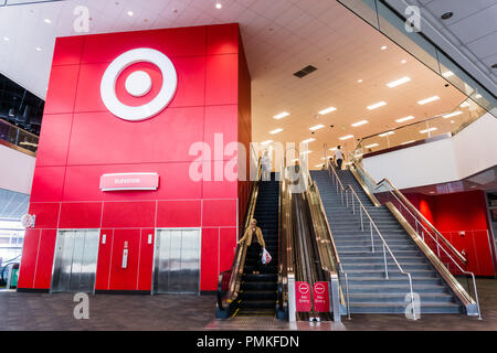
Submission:
[[[409,23],[388,8],[381,0],[338,0],[346,8],[362,18],[370,25],[387,35],[408,53],[416,57],[425,66],[442,76],[467,98],[473,99],[479,107],[497,117],[497,99],[484,86],[463,71],[452,58],[447,57],[436,45],[429,41],[417,28],[410,28]],[[419,26],[433,26],[422,17]],[[409,30],[408,30],[409,29]],[[447,42],[454,51],[458,49]],[[478,69],[475,66],[475,69]]]

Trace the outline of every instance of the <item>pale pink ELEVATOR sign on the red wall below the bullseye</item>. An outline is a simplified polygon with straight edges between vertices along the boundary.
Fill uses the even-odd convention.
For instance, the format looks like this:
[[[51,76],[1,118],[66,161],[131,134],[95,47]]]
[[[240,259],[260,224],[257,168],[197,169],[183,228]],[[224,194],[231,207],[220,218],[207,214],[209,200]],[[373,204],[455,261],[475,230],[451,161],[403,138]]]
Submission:
[[[157,173],[118,173],[101,176],[102,191],[157,190],[159,174]]]

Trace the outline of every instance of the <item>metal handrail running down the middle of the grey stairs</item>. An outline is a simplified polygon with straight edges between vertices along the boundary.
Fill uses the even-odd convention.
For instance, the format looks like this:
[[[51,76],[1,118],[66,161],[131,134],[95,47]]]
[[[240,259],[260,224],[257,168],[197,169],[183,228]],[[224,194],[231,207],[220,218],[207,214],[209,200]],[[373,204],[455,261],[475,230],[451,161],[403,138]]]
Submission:
[[[331,173],[331,172],[332,173]],[[355,205],[355,199],[357,200],[357,202],[359,203],[359,211],[360,211],[360,217],[361,217],[361,229],[362,232],[364,231],[364,225],[363,225],[363,220],[362,220],[362,213],[364,213],[368,218],[369,218],[369,227],[370,227],[370,234],[371,234],[371,252],[374,254],[374,238],[373,238],[373,232],[372,229],[374,228],[374,231],[377,232],[378,236],[380,237],[381,242],[383,243],[383,263],[384,263],[384,272],[385,272],[385,278],[389,279],[389,268],[388,268],[388,263],[387,263],[387,250],[390,254],[390,256],[392,257],[393,261],[395,263],[396,267],[399,268],[399,271],[403,275],[405,275],[409,279],[409,287],[410,287],[410,291],[411,291],[411,309],[412,309],[412,317],[413,320],[417,320],[416,318],[416,311],[415,311],[415,306],[414,306],[414,291],[413,291],[413,287],[412,287],[412,277],[410,272],[406,272],[402,269],[402,266],[399,264],[399,261],[396,260],[395,256],[393,255],[392,250],[390,249],[390,246],[387,244],[387,240],[383,238],[383,235],[381,235],[381,232],[378,229],[374,221],[371,218],[368,210],[364,207],[364,205],[362,204],[362,202],[360,201],[359,196],[357,195],[356,191],[352,189],[351,185],[347,185],[347,188],[343,188],[343,184],[341,183],[340,179],[338,178],[337,171],[335,170],[335,167],[332,165],[332,163],[328,162],[328,173],[330,173],[330,178],[334,181],[334,183],[337,185],[337,193],[338,193],[338,185],[340,186],[340,199],[341,199],[341,203],[343,204],[343,192],[346,194],[346,199],[347,199],[347,204],[346,207],[349,207],[349,200],[348,200],[348,194],[347,192],[350,190],[351,193],[351,202],[352,202],[352,213],[356,214],[356,205]]]

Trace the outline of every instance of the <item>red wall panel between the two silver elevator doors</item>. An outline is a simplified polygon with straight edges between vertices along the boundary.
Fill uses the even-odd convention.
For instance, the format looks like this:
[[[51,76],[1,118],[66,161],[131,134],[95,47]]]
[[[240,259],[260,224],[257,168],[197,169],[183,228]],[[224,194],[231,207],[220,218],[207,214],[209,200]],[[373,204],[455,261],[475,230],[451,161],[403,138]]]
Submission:
[[[128,264],[123,268],[123,250],[128,245]],[[136,290],[140,229],[115,229],[110,265],[110,290]]]

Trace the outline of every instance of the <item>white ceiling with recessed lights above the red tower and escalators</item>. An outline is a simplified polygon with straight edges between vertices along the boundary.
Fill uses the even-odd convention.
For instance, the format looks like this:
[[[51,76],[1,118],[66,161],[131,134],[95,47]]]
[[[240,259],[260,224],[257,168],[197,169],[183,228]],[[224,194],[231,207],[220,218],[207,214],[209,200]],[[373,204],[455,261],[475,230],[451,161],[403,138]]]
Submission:
[[[0,7],[0,72],[44,98],[55,38],[81,34],[73,29],[76,6],[89,9],[91,34],[239,22],[253,79],[253,139],[298,142],[314,137],[311,167],[320,162],[325,142],[331,147],[345,135],[360,138],[399,127],[394,119],[405,116],[421,120],[444,114],[464,99],[454,87],[444,87],[444,78],[337,1],[220,2],[221,10],[214,8],[215,0],[67,0]],[[381,50],[383,45],[387,50]],[[309,64],[318,71],[304,78],[293,76]],[[385,86],[403,76],[412,81],[398,88]],[[416,104],[434,95],[442,99]],[[388,105],[366,108],[380,100]],[[329,106],[337,111],[315,118]],[[282,111],[290,116],[275,120],[273,116]],[[362,119],[370,122],[350,126]],[[326,128],[311,136],[309,127],[318,124]],[[284,131],[268,133],[276,128]],[[352,149],[353,140],[341,145]]]

